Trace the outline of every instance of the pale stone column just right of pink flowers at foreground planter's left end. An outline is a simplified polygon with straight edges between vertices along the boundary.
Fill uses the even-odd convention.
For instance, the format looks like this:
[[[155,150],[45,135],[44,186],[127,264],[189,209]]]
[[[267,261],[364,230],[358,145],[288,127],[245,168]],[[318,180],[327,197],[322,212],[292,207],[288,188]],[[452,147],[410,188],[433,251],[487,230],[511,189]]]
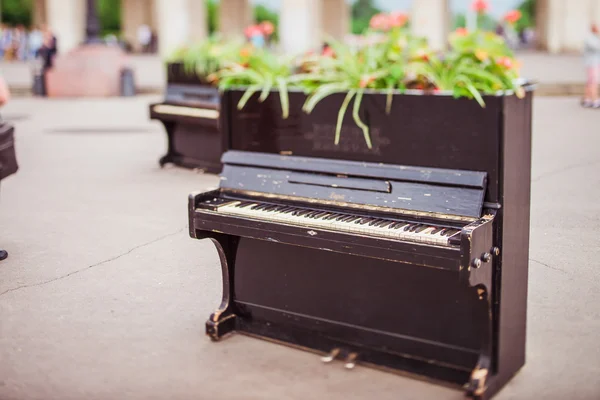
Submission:
[[[279,40],[283,52],[299,54],[321,47],[321,7],[321,0],[282,0]]]

